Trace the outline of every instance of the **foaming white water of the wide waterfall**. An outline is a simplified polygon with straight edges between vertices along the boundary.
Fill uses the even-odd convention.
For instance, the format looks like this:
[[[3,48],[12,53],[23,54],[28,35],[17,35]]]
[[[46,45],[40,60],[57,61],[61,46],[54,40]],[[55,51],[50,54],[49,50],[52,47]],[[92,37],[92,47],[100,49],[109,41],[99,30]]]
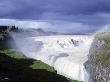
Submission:
[[[84,68],[92,36],[57,35],[20,38],[13,36],[17,47],[27,57],[53,66],[58,74],[87,82],[88,73]]]

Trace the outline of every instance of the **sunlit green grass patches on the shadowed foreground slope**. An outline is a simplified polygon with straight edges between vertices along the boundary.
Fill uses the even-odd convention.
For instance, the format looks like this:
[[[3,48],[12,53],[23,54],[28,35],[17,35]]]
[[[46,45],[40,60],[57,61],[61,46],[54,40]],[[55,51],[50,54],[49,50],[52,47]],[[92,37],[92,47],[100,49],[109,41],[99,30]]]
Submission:
[[[2,50],[1,53],[4,53],[7,56],[10,56],[10,57],[16,58],[16,59],[27,59],[22,53],[14,50],[14,49]],[[55,72],[53,67],[49,66],[48,64],[43,63],[40,60],[35,60],[32,63],[32,65],[30,65],[29,67],[31,67],[32,69],[46,69],[47,71]]]

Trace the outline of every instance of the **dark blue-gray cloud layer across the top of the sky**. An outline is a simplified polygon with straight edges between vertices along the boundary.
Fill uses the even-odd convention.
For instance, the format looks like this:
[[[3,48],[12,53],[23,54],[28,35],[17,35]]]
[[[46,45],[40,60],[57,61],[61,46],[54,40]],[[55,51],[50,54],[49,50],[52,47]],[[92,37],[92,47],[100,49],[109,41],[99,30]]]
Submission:
[[[52,13],[62,17],[110,13],[109,2],[109,0],[1,0],[0,17],[40,19],[46,14],[52,18]]]

